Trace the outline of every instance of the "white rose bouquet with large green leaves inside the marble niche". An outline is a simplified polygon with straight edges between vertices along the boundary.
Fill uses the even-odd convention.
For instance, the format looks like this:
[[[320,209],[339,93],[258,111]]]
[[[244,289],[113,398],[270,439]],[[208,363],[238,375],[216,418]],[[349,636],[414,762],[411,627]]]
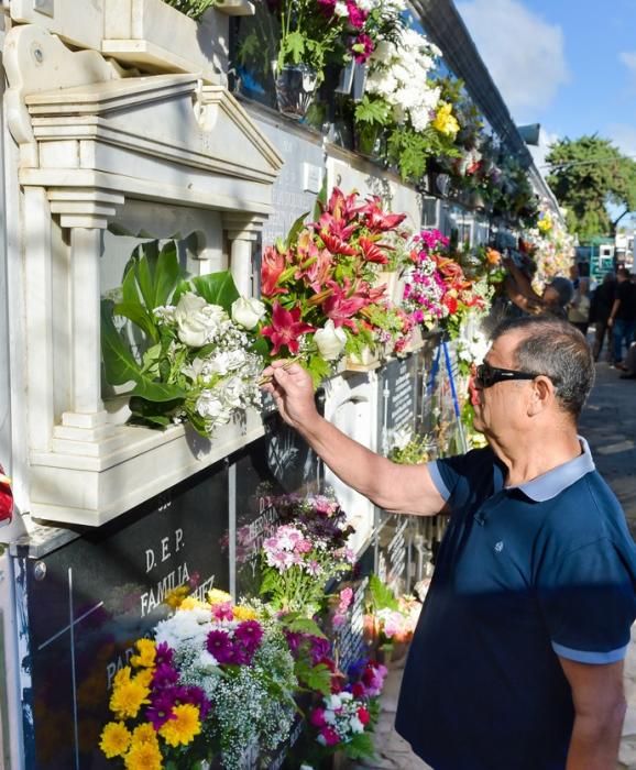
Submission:
[[[259,300],[239,296],[229,273],[187,280],[174,242],[161,252],[156,242],[139,246],[117,301],[102,301],[106,380],[134,384],[131,421],[188,421],[211,437],[237,413],[260,406],[263,359],[248,330],[263,312]],[[116,318],[130,321],[128,340]]]

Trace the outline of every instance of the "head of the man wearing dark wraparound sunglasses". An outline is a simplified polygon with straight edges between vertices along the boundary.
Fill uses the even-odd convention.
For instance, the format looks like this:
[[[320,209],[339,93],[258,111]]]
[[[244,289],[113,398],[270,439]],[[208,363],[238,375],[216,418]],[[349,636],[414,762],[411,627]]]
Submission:
[[[476,382],[475,427],[501,437],[534,427],[575,426],[594,382],[583,334],[567,321],[529,316],[503,321],[491,339],[484,380]],[[492,367],[508,374],[493,374]]]

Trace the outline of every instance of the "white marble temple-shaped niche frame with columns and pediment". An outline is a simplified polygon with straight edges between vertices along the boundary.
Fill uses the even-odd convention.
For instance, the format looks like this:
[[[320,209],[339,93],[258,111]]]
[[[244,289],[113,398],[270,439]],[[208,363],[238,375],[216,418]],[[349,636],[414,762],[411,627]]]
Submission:
[[[98,54],[72,52],[33,25],[8,43],[9,128],[24,147],[30,510],[98,526],[263,433],[257,413],[204,441],[184,426],[123,426],[121,410],[105,405],[105,229],[143,228],[149,207],[157,219],[165,211],[164,234],[175,223],[197,233],[200,273],[229,266],[249,294],[253,241],[283,162],[222,86],[193,75],[122,78]],[[197,226],[205,211],[209,227]]]

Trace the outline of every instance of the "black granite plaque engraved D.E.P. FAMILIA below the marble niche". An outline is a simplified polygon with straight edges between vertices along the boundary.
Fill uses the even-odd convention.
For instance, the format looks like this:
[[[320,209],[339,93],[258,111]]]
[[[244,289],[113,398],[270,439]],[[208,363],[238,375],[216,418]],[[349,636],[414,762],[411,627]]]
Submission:
[[[40,561],[18,558],[26,767],[112,766],[98,748],[112,678],[167,614],[171,592],[228,587],[227,529],[227,471],[217,466]]]

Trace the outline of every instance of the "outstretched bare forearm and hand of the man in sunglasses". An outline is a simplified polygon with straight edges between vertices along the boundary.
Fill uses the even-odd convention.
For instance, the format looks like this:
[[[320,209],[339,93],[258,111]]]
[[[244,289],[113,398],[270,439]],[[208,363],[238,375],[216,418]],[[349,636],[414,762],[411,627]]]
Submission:
[[[426,465],[398,465],[372,452],[320,417],[311,377],[299,364],[275,361],[265,370],[281,416],[347,485],[375,505],[403,514],[432,516],[445,507]]]

